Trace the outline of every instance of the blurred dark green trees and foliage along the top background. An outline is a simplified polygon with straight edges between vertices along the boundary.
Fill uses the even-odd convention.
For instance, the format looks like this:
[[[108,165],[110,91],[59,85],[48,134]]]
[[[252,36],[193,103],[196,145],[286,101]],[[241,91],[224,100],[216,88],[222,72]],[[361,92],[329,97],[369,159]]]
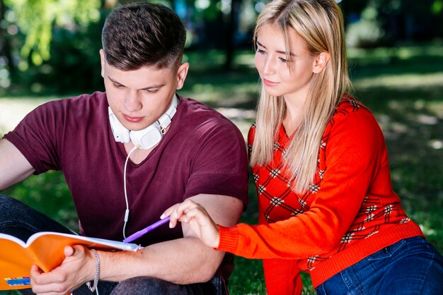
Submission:
[[[94,71],[99,67],[101,25],[111,8],[133,1],[139,0],[0,0],[0,91],[18,87],[59,88],[57,92],[100,89],[100,75]],[[267,2],[145,1],[161,2],[178,13],[188,28],[188,52],[224,50],[226,68],[234,62],[236,49],[252,48],[251,29]],[[338,2],[345,13],[348,44],[379,47],[395,45],[398,40],[443,37],[443,0]]]

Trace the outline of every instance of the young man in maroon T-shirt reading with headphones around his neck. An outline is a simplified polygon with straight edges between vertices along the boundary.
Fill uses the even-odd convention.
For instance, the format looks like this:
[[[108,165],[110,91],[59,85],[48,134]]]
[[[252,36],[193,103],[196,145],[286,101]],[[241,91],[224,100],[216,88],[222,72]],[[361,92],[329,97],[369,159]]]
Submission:
[[[221,114],[176,95],[189,67],[181,64],[185,36],[166,6],[131,4],[110,13],[100,51],[106,92],[44,104],[6,134],[0,191],[30,174],[62,170],[81,234],[117,241],[187,198],[219,224],[236,224],[247,205],[246,145]],[[69,232],[0,198],[0,232],[26,239],[47,230]],[[146,247],[135,253],[67,247],[51,272],[32,267],[32,290],[91,294],[98,275],[100,295],[226,293],[232,257],[205,246],[187,225],[163,226],[134,242]]]

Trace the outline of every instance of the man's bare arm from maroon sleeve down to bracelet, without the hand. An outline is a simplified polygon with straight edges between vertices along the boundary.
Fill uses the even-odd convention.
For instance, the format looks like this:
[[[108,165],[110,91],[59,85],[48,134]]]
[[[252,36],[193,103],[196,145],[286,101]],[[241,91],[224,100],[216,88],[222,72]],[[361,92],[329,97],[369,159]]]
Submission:
[[[205,206],[215,222],[226,226],[236,224],[243,211],[241,200],[224,195],[196,195],[190,199]],[[131,257],[118,257],[122,260],[115,264],[113,264],[114,258],[107,257],[113,253],[100,252],[100,255],[103,255],[101,279],[118,281],[143,275],[176,284],[206,282],[211,279],[222,263],[224,252],[214,251],[213,248],[205,246],[188,224],[182,226],[185,236],[183,239],[157,243],[146,247],[140,253],[127,253]],[[123,274],[121,265],[127,265],[129,268],[132,265],[133,271],[137,274]]]

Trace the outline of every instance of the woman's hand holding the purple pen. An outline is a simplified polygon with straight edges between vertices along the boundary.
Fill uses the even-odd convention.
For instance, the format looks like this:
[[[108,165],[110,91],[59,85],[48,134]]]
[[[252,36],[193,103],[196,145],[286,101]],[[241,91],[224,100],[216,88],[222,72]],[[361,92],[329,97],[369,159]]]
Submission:
[[[219,227],[202,205],[192,200],[185,200],[168,208],[160,218],[168,216],[171,219],[169,227],[176,227],[177,221],[185,222],[207,246],[212,248],[219,246]]]

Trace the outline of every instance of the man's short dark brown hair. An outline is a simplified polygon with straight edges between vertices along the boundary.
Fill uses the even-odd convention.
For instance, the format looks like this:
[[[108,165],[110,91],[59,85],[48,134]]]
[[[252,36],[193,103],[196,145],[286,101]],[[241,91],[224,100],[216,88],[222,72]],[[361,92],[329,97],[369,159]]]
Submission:
[[[105,59],[122,71],[143,66],[178,66],[185,47],[185,26],[170,8],[135,3],[115,8],[105,20]]]

